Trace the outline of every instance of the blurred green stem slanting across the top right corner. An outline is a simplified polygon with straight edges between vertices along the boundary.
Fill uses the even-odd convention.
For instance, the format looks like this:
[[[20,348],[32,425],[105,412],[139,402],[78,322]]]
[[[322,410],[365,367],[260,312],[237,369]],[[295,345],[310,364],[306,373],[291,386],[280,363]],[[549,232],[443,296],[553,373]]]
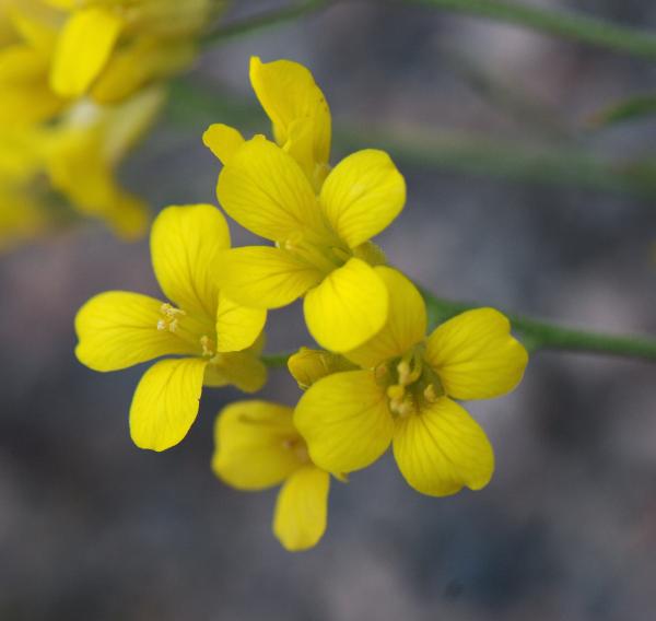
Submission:
[[[571,11],[541,9],[509,0],[405,0],[405,3],[487,17],[613,51],[656,59],[656,34]]]

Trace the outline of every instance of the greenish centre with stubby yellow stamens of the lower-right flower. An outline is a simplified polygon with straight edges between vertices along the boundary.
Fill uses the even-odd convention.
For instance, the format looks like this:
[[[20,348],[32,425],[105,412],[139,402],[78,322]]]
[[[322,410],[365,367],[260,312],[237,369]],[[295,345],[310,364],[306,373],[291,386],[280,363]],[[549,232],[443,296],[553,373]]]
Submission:
[[[389,410],[396,417],[417,414],[444,395],[437,374],[423,358],[423,344],[400,359],[376,368],[376,378],[387,386]]]

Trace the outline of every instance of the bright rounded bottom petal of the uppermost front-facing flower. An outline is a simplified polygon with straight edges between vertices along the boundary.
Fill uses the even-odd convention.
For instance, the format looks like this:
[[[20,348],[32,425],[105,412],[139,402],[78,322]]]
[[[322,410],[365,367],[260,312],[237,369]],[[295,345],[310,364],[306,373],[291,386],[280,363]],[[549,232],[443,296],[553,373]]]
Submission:
[[[345,352],[360,347],[383,328],[388,293],[374,268],[349,259],[305,295],[305,321],[323,348]]]

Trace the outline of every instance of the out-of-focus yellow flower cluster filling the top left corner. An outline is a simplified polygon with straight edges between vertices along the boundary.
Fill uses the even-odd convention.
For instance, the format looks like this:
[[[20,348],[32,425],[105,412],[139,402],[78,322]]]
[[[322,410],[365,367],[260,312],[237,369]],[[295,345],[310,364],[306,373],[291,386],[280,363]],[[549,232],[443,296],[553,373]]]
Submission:
[[[0,0],[0,247],[63,199],[119,235],[148,225],[116,169],[222,0]]]

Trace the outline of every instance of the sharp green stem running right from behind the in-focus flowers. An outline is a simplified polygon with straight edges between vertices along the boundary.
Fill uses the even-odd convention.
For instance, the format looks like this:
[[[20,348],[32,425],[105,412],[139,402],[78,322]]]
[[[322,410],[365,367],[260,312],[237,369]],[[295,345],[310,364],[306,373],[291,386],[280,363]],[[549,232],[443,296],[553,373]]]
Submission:
[[[431,325],[480,307],[480,304],[466,304],[443,300],[422,291]],[[656,362],[656,339],[639,336],[612,336],[565,328],[548,321],[538,321],[522,315],[507,314],[513,328],[530,351],[560,350],[563,352],[599,353],[625,358],[637,358]]]

